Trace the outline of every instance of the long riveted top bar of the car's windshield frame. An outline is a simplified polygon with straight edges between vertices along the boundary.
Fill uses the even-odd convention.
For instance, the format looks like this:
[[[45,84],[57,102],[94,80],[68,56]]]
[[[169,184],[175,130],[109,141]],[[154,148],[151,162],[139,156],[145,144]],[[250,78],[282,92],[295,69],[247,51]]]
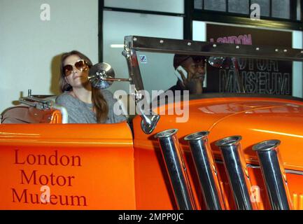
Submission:
[[[220,57],[244,57],[255,59],[277,59],[303,61],[303,50],[294,48],[277,49],[267,45],[237,45],[233,43],[211,43],[206,41],[178,40],[146,36],[125,36],[127,48],[145,52],[166,52],[183,55],[206,55]]]

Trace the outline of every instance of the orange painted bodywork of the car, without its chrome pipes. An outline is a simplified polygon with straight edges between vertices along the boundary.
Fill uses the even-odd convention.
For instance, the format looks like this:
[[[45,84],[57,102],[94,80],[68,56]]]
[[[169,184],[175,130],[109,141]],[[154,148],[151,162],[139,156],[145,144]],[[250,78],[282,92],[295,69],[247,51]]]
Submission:
[[[158,108],[166,111],[167,104]],[[154,135],[178,129],[198,209],[204,209],[188,134],[209,131],[226,209],[234,201],[215,142],[241,135],[253,186],[260,188],[259,209],[269,209],[265,185],[252,146],[281,140],[293,209],[303,209],[303,102],[274,97],[205,97],[189,102],[189,120],[162,115],[152,134],[141,117],[129,125],[61,124],[58,111],[49,123],[0,125],[0,209],[176,209],[173,191]],[[41,195],[50,193],[49,202]]]

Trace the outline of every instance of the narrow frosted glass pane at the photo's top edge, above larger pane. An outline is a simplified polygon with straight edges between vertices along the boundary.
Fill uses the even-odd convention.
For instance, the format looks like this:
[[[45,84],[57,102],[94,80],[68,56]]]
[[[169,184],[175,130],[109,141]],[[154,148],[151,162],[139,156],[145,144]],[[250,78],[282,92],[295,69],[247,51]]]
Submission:
[[[104,6],[167,13],[184,13],[184,0],[104,0]]]

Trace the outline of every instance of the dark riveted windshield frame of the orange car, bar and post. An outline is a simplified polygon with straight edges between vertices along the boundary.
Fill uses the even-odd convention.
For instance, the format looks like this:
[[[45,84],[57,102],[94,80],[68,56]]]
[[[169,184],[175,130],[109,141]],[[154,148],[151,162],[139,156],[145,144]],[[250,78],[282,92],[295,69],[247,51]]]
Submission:
[[[237,58],[252,58],[252,59],[272,59],[292,62],[303,62],[303,49],[295,48],[275,48],[265,45],[240,45],[234,43],[211,43],[207,41],[191,41],[172,38],[156,38],[147,36],[125,36],[125,50],[122,52],[127,59],[129,68],[129,78],[132,78],[131,84],[135,86],[135,90],[144,90],[139,62],[136,57],[136,52],[160,52],[179,55],[204,55],[213,57],[237,57]],[[203,94],[197,94],[190,99],[204,98]],[[227,93],[224,93],[225,97]],[[281,94],[237,94],[242,97],[274,97],[285,98]],[[209,94],[214,95],[214,94]],[[220,95],[220,93],[216,94]],[[291,99],[301,99],[299,97],[287,96]]]

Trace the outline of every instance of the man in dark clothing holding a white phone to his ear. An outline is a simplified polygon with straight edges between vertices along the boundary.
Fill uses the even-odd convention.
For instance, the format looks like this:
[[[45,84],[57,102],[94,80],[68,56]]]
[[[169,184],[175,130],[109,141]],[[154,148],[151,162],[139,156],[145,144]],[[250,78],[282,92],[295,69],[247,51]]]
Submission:
[[[181,90],[181,94],[183,90],[189,90],[190,94],[201,94],[204,92],[205,59],[204,56],[200,55],[175,55],[174,68],[180,74],[180,77],[176,85],[169,88],[169,90]]]

